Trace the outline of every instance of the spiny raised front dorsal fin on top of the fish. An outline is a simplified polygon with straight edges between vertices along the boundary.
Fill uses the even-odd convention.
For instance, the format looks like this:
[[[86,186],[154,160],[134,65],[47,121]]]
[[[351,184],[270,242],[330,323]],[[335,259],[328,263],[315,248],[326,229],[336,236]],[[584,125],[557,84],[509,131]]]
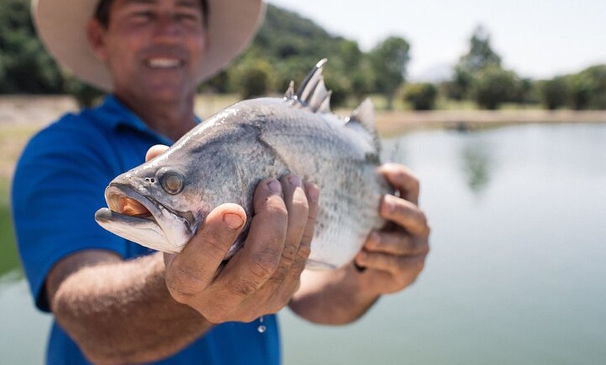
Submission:
[[[330,112],[330,95],[332,92],[326,89],[322,76],[322,70],[327,62],[327,59],[318,61],[297,90],[299,102],[305,104],[312,111]]]

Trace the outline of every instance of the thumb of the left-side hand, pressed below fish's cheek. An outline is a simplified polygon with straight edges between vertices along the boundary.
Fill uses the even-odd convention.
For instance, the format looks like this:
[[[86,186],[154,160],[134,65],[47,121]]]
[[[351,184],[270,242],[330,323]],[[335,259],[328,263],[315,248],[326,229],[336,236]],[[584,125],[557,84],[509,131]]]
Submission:
[[[166,260],[166,285],[171,293],[187,297],[208,286],[245,222],[246,212],[238,204],[212,210],[180,254]]]

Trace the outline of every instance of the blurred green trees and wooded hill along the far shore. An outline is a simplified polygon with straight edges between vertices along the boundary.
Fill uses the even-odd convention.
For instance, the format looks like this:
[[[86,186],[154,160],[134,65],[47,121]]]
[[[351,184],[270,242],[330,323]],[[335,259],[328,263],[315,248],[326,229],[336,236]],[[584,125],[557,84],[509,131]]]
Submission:
[[[0,0],[0,94],[74,95],[83,105],[102,93],[81,83],[45,52],[36,36],[29,0]],[[506,70],[481,26],[449,80],[407,83],[410,43],[392,36],[362,52],[357,42],[332,36],[288,10],[269,4],[265,22],[247,52],[200,86],[201,92],[238,93],[240,98],[283,93],[301,81],[312,65],[329,58],[325,78],[332,104],[384,96],[387,108],[405,102],[412,109],[434,109],[439,98],[470,101],[485,109],[504,103],[539,104],[548,109],[606,109],[606,65],[574,75],[534,81]]]

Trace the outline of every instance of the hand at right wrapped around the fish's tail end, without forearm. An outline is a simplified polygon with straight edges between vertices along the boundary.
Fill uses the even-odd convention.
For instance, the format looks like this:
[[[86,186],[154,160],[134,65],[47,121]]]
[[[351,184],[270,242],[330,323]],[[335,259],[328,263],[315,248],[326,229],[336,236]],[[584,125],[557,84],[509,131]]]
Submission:
[[[419,209],[419,180],[405,166],[384,164],[380,167],[398,196],[385,195],[380,215],[389,223],[368,236],[355,263],[365,267],[367,287],[376,294],[395,293],[417,279],[429,252],[429,226]]]

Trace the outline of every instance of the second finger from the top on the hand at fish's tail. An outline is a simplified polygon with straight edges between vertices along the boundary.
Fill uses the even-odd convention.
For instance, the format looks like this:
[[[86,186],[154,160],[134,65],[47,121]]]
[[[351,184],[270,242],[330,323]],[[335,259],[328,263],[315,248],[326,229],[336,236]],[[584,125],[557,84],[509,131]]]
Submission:
[[[404,228],[408,233],[421,238],[429,236],[429,225],[422,210],[414,203],[393,195],[384,195],[380,215]]]

